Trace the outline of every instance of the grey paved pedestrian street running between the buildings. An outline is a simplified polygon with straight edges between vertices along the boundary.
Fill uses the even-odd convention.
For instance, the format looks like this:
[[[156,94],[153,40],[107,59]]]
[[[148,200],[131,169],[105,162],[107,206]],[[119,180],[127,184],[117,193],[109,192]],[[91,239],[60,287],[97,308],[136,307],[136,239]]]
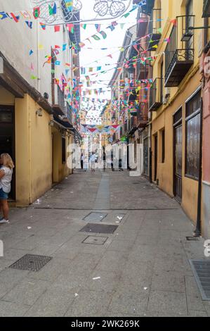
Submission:
[[[188,262],[204,258],[193,230],[145,177],[75,170],[0,225],[0,316],[210,316]],[[25,254],[51,261],[9,268]]]

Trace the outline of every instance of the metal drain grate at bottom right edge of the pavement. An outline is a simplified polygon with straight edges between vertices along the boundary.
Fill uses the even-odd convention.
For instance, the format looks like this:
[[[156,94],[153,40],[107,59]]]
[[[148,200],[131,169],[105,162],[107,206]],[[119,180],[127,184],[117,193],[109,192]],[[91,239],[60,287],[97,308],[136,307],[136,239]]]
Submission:
[[[189,260],[203,300],[210,301],[210,261]]]

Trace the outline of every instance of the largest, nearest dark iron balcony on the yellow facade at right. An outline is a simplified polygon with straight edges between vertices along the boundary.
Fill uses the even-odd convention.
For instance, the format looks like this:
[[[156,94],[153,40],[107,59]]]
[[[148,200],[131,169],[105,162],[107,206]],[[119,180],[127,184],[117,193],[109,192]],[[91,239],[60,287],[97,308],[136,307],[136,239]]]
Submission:
[[[165,51],[165,87],[177,87],[194,63],[195,16],[178,16]]]

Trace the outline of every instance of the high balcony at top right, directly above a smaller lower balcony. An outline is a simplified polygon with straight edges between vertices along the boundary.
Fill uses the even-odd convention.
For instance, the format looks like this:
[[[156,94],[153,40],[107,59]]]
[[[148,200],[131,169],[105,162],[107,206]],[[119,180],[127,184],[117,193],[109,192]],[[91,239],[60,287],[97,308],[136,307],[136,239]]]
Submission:
[[[147,51],[157,51],[157,45],[161,39],[161,8],[152,9],[150,16],[150,23],[148,27],[148,34],[150,35],[147,38],[147,41],[150,43]]]

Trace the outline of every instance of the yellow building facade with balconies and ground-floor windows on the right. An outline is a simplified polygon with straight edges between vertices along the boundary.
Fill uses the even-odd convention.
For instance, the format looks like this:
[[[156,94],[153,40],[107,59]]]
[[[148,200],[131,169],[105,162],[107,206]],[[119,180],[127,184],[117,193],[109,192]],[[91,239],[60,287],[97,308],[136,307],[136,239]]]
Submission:
[[[201,75],[202,6],[199,0],[156,0],[152,9],[161,21],[153,29],[157,55],[152,62],[152,180],[197,220]],[[157,15],[158,13],[158,15]],[[161,20],[160,20],[161,19]],[[153,23],[154,25],[157,24]],[[191,28],[190,28],[191,27]]]

